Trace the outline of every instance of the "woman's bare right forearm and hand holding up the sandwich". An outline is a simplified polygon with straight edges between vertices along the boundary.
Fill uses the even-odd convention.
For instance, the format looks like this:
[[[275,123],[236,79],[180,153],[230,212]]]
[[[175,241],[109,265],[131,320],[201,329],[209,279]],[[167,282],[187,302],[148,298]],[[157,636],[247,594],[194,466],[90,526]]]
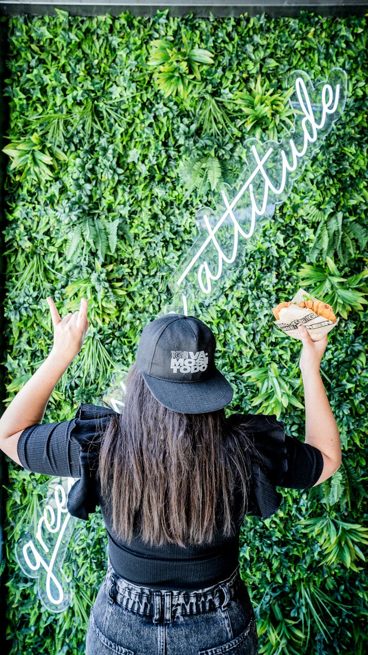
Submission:
[[[312,341],[305,327],[299,328],[299,333],[303,343],[299,366],[305,394],[305,443],[318,448],[324,458],[324,468],[315,487],[339,469],[341,441],[320,376],[320,362],[326,350],[327,336],[321,341]]]

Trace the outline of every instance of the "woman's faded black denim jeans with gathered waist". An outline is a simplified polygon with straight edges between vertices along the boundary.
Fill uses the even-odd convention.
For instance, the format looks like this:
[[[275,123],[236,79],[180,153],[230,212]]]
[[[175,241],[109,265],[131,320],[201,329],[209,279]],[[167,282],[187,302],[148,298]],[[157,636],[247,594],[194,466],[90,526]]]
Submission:
[[[167,591],[109,569],[91,608],[86,655],[256,655],[248,591],[233,574],[205,589]]]

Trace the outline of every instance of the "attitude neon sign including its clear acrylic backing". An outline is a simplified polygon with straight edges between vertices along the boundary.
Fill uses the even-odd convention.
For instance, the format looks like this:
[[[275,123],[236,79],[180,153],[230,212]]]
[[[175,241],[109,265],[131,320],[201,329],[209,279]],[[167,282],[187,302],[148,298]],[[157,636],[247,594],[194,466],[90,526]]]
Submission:
[[[201,208],[196,214],[203,234],[170,282],[174,294],[181,294],[184,313],[188,295],[197,296],[196,290],[209,295],[213,282],[223,276],[224,264],[235,262],[239,237],[250,239],[258,219],[271,217],[276,204],[290,195],[293,182],[343,113],[347,90],[343,69],[332,69],[327,81],[316,86],[305,71],[293,71],[288,86],[295,89],[289,101],[295,115],[293,132],[280,143],[246,141],[247,177],[245,181],[244,176],[239,180],[241,188],[233,200],[229,200],[233,189],[223,185],[216,212]]]

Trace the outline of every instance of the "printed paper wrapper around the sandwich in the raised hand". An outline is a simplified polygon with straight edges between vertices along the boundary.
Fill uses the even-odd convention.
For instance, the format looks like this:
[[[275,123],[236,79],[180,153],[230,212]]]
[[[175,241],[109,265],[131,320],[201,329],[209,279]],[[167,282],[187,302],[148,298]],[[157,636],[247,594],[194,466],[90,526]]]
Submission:
[[[299,289],[299,291],[295,293],[291,302],[301,303],[303,300],[318,301],[318,298],[315,298],[303,289]],[[312,341],[319,341],[320,339],[323,339],[324,335],[330,332],[339,322],[339,318],[337,318],[334,323],[333,321],[324,318],[324,316],[316,316],[316,314],[314,314],[310,309],[302,309],[297,305],[290,305],[289,307],[280,309],[279,316],[280,319],[275,321],[275,325],[280,327],[280,329],[282,329],[282,331],[289,337],[299,340],[300,337],[297,331],[299,326],[305,326]]]

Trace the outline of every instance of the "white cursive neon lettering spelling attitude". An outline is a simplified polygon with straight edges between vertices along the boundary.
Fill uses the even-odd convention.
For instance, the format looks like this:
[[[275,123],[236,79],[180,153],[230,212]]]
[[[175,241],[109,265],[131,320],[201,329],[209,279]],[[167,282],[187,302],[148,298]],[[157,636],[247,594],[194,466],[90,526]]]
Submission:
[[[175,288],[186,280],[190,271],[197,265],[197,282],[199,288],[206,295],[210,293],[212,282],[219,280],[222,276],[223,263],[233,263],[237,257],[239,234],[244,239],[249,239],[254,234],[256,218],[270,212],[270,208],[274,211],[276,202],[282,202],[280,196],[289,195],[292,189],[293,179],[296,178],[291,178],[290,183],[288,183],[288,175],[297,170],[299,160],[305,157],[309,145],[316,142],[318,132],[324,130],[325,134],[327,134],[332,122],[337,120],[343,111],[346,99],[346,73],[344,71],[333,69],[330,75],[332,77],[339,77],[340,81],[334,86],[330,83],[323,84],[321,88],[320,84],[316,88],[313,88],[307,73],[303,71],[294,71],[294,73],[295,75],[298,73],[295,78],[295,100],[293,102],[290,100],[290,103],[292,107],[293,104],[299,107],[303,118],[300,120],[299,115],[295,115],[293,136],[290,137],[289,135],[286,140],[275,143],[273,147],[267,149],[265,154],[261,153],[262,144],[252,143],[250,152],[254,160],[254,169],[231,202],[229,202],[224,190],[221,191],[221,202],[218,204],[218,208],[222,207],[223,210],[214,225],[210,224],[207,214],[203,214],[203,224],[206,233],[208,233],[207,237],[197,252],[195,252],[192,259],[190,259],[189,263],[186,263],[184,271],[182,271],[175,282]],[[309,87],[312,89],[312,98],[305,80],[307,80]],[[341,81],[343,84],[341,84]],[[316,98],[318,103],[316,102]],[[338,109],[340,110],[339,113],[337,113]],[[316,119],[317,115],[318,120]],[[327,117],[329,116],[333,118],[329,120],[329,124],[326,124]],[[277,182],[274,179],[275,170],[278,174],[279,181]],[[303,168],[299,171],[298,176],[301,172],[303,172]],[[235,215],[235,208],[241,199],[244,202],[244,195],[246,206],[248,207],[248,231],[243,229],[239,223],[239,219]],[[275,198],[272,200],[270,196],[275,196]],[[220,239],[215,236],[220,227],[224,225],[227,217],[231,219],[233,229],[233,248],[229,256],[224,252],[224,248],[220,244]],[[205,257],[202,262],[198,261],[204,255],[207,248],[211,246],[212,249],[214,248],[214,252],[216,252],[216,263],[214,264],[216,269],[212,271],[210,270],[211,264],[208,257]]]

